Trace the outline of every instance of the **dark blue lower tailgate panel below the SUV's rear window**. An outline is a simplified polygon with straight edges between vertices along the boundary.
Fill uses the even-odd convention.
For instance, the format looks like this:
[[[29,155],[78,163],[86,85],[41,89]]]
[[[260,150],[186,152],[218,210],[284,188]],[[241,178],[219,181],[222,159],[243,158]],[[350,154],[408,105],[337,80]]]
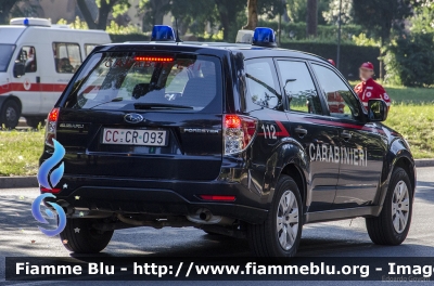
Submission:
[[[219,174],[221,115],[141,113],[144,120],[131,126],[124,120],[126,113],[60,114],[58,140],[67,153],[65,174],[176,180],[213,180]],[[164,145],[156,145],[163,132]]]

